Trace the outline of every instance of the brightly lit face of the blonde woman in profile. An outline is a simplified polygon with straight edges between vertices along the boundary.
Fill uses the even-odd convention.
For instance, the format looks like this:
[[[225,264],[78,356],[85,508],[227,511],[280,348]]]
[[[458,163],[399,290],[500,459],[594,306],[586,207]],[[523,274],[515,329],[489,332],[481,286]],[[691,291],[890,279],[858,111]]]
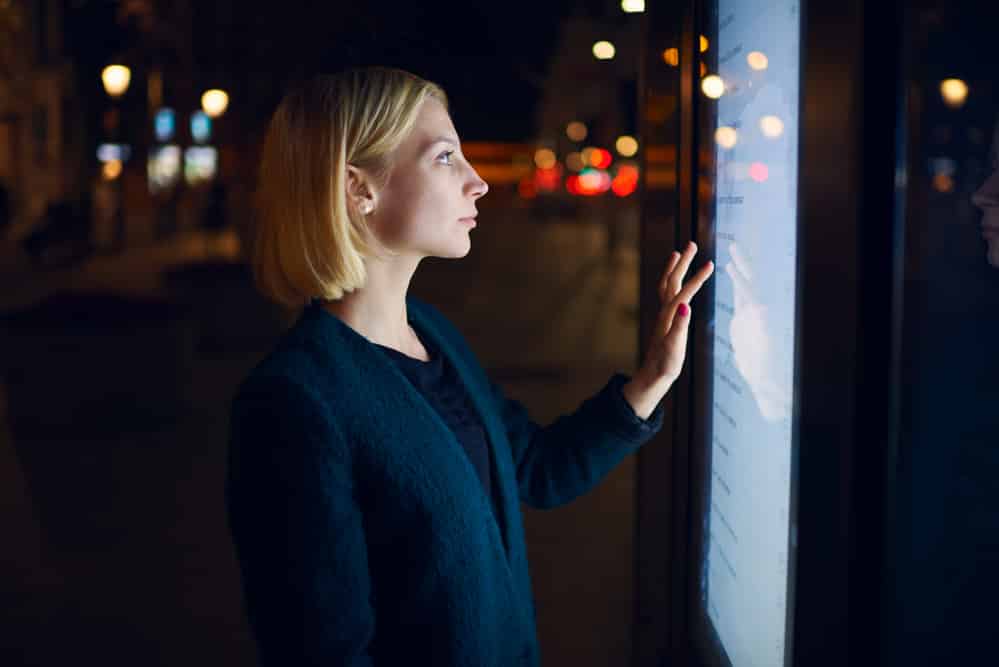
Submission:
[[[489,186],[461,153],[444,106],[423,102],[412,133],[392,156],[370,224],[382,243],[422,257],[464,257],[471,249],[476,200]]]

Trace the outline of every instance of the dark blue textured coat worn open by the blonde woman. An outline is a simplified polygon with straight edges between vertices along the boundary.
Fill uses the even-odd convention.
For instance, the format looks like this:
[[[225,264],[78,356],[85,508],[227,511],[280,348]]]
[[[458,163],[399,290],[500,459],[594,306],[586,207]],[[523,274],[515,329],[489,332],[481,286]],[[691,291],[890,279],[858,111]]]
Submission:
[[[520,502],[563,505],[662,424],[621,374],[547,427],[505,399],[458,331],[407,300],[489,443],[496,514],[461,444],[376,346],[305,309],[233,401],[226,500],[264,665],[537,665]]]

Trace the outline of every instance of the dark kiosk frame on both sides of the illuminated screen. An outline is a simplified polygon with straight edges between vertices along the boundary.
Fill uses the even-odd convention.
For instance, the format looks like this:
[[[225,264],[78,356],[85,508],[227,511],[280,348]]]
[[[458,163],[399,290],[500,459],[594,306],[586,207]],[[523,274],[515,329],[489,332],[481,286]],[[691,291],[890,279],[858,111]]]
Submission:
[[[713,0],[712,0],[713,1]],[[650,3],[644,20],[642,104],[672,86],[678,129],[675,229],[642,217],[641,339],[658,303],[648,281],[674,248],[694,240],[697,265],[711,257],[702,220],[705,99],[697,40],[705,0]],[[892,577],[891,498],[898,461],[904,271],[904,137],[901,3],[801,3],[792,526],[786,665],[881,664]],[[657,73],[662,26],[677,26],[679,71]],[[659,39],[659,42],[656,40]],[[664,83],[665,81],[665,83]],[[646,125],[648,121],[646,119]],[[643,128],[643,133],[645,129]],[[643,196],[647,195],[643,192]],[[654,194],[654,193],[653,193]],[[663,197],[655,195],[657,205]],[[661,271],[661,268],[659,269]],[[698,496],[711,348],[702,290],[686,372],[667,398],[670,418],[639,452],[636,512],[636,665],[727,664],[699,604]],[[733,667],[740,667],[734,665]]]

